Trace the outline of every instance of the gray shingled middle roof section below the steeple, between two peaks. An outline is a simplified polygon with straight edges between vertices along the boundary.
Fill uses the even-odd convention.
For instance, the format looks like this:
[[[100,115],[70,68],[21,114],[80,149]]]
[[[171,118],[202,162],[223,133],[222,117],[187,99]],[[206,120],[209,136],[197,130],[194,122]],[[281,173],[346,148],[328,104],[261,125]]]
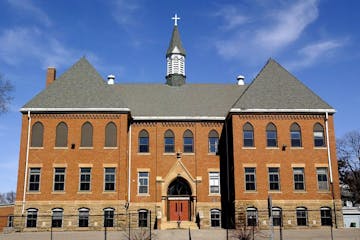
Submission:
[[[119,94],[139,117],[225,118],[231,105],[246,89],[236,84],[121,84]]]

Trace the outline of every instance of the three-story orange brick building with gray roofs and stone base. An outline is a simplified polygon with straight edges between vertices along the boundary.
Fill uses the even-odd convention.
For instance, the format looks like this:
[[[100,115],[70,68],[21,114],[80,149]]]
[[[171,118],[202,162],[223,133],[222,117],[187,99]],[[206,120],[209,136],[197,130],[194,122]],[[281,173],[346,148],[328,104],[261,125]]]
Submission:
[[[268,196],[274,225],[340,216],[334,109],[273,59],[249,85],[188,84],[185,59],[175,24],[166,84],[49,68],[21,109],[15,228],[267,228]]]

